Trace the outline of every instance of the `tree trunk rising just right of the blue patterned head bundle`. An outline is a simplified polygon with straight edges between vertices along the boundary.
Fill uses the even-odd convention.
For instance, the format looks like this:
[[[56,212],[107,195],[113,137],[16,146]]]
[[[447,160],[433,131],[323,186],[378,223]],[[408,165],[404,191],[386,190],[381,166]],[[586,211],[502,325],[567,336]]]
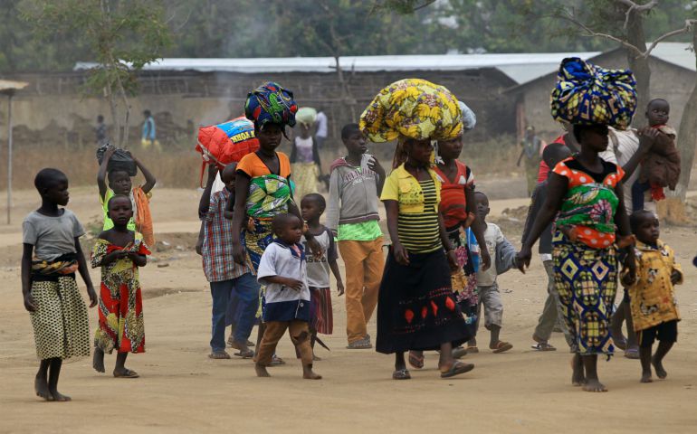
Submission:
[[[626,31],[627,42],[642,52],[646,51],[646,36],[644,35],[644,14],[632,12]],[[634,50],[625,49],[629,69],[634,72],[636,79],[636,112],[634,125],[645,123],[644,110],[651,100],[651,69],[649,61],[639,56]]]

